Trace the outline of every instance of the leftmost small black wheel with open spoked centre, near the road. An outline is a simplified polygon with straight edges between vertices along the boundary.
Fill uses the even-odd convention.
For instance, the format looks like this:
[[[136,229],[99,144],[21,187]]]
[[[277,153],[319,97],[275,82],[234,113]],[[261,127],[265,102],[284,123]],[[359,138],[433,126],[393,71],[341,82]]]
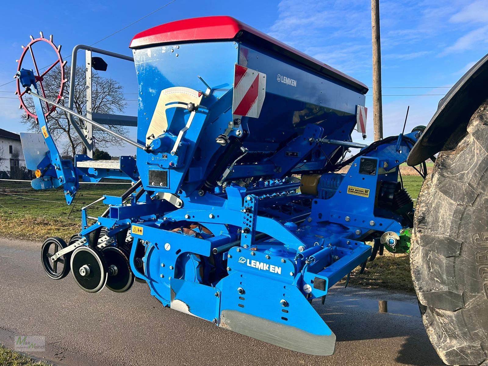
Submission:
[[[67,245],[61,238],[46,239],[41,247],[41,263],[44,271],[53,280],[61,280],[69,273],[71,253],[66,253],[59,257],[55,262],[51,257]]]

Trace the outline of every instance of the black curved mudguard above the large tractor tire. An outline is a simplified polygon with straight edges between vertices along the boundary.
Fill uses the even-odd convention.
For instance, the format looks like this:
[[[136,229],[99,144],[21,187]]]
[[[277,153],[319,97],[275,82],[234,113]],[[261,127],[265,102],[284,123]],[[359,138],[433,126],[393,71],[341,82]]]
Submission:
[[[459,125],[468,125],[474,111],[488,97],[488,54],[469,69],[441,99],[437,111],[407,158],[418,165],[441,151]]]

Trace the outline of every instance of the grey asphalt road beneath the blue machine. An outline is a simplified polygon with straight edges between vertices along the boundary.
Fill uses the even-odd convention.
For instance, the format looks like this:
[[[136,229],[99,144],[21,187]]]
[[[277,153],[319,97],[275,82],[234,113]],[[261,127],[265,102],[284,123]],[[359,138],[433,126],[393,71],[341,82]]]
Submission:
[[[336,353],[309,356],[268,345],[164,308],[147,285],[83,292],[71,274],[50,280],[41,244],[0,239],[0,342],[45,336],[33,355],[60,365],[443,365],[415,296],[334,287],[313,306],[337,336]],[[378,313],[378,300],[390,313]],[[306,321],[306,319],[305,319]]]

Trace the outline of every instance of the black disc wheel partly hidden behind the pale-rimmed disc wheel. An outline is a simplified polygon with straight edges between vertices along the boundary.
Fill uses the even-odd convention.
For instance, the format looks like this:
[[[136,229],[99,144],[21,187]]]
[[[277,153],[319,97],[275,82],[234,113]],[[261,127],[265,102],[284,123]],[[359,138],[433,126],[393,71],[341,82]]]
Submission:
[[[107,264],[107,288],[114,292],[127,291],[134,284],[135,278],[130,270],[129,259],[115,246],[103,248],[102,253]]]

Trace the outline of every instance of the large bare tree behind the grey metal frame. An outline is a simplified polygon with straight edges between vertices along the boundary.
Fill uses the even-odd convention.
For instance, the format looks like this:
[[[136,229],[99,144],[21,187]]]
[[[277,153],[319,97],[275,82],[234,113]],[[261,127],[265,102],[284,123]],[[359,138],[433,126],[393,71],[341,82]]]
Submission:
[[[66,67],[69,69],[69,67]],[[82,116],[86,116],[86,74],[85,68],[78,66],[76,68],[76,82],[74,85],[74,103],[73,110]],[[61,85],[61,69],[59,67],[51,70],[42,80],[46,98],[51,101],[56,101]],[[38,83],[39,88],[39,83]],[[65,83],[65,93],[68,94],[70,88],[69,80]],[[40,89],[40,88],[39,88]],[[40,90],[41,93],[41,90]],[[23,100],[30,111],[34,114],[34,102],[28,95],[23,96]],[[65,97],[59,102],[67,106],[68,99]],[[46,103],[41,102],[44,112],[47,110]],[[95,70],[92,70],[92,112],[93,113],[110,113],[120,114],[124,111],[127,103],[123,95],[123,86],[112,78],[104,78]],[[51,107],[51,106],[49,106]],[[21,116],[21,122],[28,125],[29,131],[39,132],[39,125],[32,118],[28,118],[24,113]],[[77,119],[75,118],[75,121]],[[78,121],[81,125],[82,121]],[[83,122],[84,123],[84,122]],[[74,158],[75,154],[81,153],[83,143],[76,133],[73,126],[69,123],[68,114],[61,110],[56,110],[47,118],[47,127],[56,142],[61,142],[61,155],[71,156]],[[128,134],[128,129],[123,126],[108,126],[111,130],[122,135]],[[120,144],[120,139],[93,127],[93,140],[97,148],[108,148]]]

